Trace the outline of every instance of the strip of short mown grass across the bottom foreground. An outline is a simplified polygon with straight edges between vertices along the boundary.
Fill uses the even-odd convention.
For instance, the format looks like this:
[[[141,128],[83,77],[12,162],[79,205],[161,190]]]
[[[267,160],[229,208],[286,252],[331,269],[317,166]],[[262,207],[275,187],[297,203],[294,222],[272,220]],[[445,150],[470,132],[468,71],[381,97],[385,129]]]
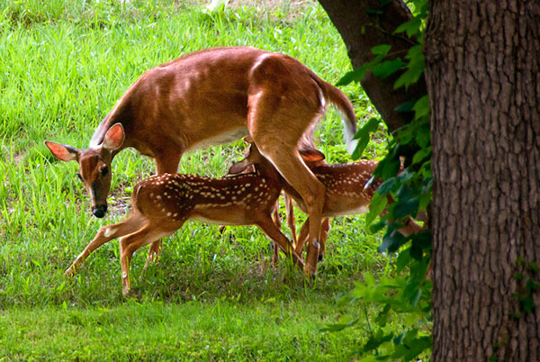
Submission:
[[[4,357],[13,359],[346,359],[358,335],[319,331],[338,316],[326,313],[328,303],[221,298],[84,311],[12,310],[0,316],[1,324],[12,326],[0,331]]]

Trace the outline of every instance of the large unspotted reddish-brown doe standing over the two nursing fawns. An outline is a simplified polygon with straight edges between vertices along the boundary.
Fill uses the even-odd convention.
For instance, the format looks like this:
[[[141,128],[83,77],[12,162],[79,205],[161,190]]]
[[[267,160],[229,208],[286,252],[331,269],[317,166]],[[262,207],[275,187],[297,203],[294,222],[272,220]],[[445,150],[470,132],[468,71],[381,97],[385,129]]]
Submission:
[[[306,272],[316,273],[324,186],[302,162],[299,148],[327,105],[342,114],[347,149],[355,148],[356,116],[347,96],[298,60],[252,48],[197,51],[146,71],[94,132],[87,149],[46,141],[64,161],[76,160],[103,217],[112,158],[127,147],[156,158],[157,174],[174,174],[185,151],[250,135],[261,153],[302,196],[310,214]],[[159,242],[148,261],[157,260]]]

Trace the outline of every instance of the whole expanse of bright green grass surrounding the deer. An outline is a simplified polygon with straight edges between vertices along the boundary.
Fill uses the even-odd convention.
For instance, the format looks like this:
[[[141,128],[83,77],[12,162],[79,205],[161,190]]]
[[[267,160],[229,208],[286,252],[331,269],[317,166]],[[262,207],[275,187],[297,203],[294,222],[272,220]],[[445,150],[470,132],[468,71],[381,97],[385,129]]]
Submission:
[[[198,222],[166,238],[144,274],[146,249],[135,255],[130,299],[121,296],[117,241],[75,277],[63,275],[101,225],[124,217],[131,187],[155,165],[130,150],[115,158],[111,212],[98,220],[76,163],[58,162],[43,140],[85,147],[145,69],[225,45],[284,52],[330,83],[350,69],[338,32],[313,3],[214,14],[165,0],[0,3],[0,359],[340,359],[365,340],[363,328],[319,331],[359,312],[337,300],[363,271],[391,269],[361,216],[333,222],[311,283],[288,260],[271,267],[270,242],[256,228],[220,234]],[[342,89],[359,122],[374,115],[359,86]],[[350,160],[337,113],[320,123],[319,138],[329,162]],[[180,172],[221,176],[242,148],[190,152]],[[374,142],[365,156],[380,158],[383,148]]]

